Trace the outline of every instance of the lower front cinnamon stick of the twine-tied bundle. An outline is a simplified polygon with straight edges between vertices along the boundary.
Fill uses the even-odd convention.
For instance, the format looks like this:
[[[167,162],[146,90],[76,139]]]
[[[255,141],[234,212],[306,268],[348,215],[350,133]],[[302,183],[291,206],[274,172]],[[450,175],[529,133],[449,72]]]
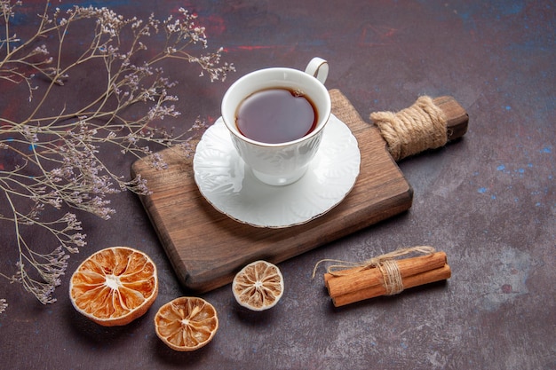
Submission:
[[[417,287],[420,285],[429,284],[435,281],[449,279],[451,270],[448,264],[442,267],[433,269],[426,272],[410,275],[403,279],[403,287]],[[349,303],[359,302],[365,299],[374,298],[379,295],[385,295],[386,289],[383,285],[374,285],[372,287],[363,288],[354,292],[346,293],[345,295],[336,295],[332,297],[332,303],[335,307],[344,306]]]

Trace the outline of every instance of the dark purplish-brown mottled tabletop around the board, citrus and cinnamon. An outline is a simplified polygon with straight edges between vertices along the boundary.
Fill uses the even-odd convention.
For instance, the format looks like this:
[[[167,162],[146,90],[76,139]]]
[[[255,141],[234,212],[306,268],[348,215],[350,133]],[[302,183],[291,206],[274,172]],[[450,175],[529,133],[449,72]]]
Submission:
[[[20,27],[36,27],[42,4],[24,3]],[[342,91],[366,120],[420,95],[450,95],[467,110],[469,130],[456,143],[399,163],[414,190],[408,212],[279,264],[286,290],[272,310],[244,311],[230,286],[203,294],[218,310],[220,327],[208,346],[191,353],[167,348],[152,324],[163,303],[190,292],[179,286],[139,198],[116,195],[111,220],[79,214],[88,245],[69,260],[57,303],[44,306],[2,280],[0,298],[9,306],[0,314],[0,367],[556,368],[555,2],[75,4],[142,18],[150,12],[165,18],[185,6],[207,28],[210,46],[225,47],[237,69],[225,83],[184,77],[178,66],[167,71],[180,82],[177,131],[197,116],[214,122],[227,86],[241,75],[261,67],[302,69],[314,56],[330,62],[327,87]],[[24,104],[9,91],[0,96],[2,116]],[[128,174],[131,161],[116,167]],[[0,226],[4,256],[12,256],[12,224]],[[114,245],[153,257],[160,293],[130,325],[99,327],[73,309],[68,275],[93,251]],[[448,282],[336,309],[322,279],[311,279],[322,258],[353,261],[417,245],[447,253]],[[13,263],[0,259],[2,272]]]

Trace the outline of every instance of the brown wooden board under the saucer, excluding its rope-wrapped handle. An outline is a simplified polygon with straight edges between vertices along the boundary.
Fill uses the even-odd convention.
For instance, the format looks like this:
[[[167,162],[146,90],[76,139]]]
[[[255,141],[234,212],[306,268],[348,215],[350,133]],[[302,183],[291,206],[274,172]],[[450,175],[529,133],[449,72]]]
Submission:
[[[185,287],[198,293],[221,287],[252,261],[278,264],[411,207],[411,186],[377,128],[363,122],[340,91],[330,91],[330,97],[332,113],[357,138],[361,172],[344,201],[306,224],[258,228],[221,214],[199,192],[192,159],[174,148],[161,152],[168,169],[153,169],[146,160],[133,163],[132,175],[147,179],[152,192],[140,199]]]

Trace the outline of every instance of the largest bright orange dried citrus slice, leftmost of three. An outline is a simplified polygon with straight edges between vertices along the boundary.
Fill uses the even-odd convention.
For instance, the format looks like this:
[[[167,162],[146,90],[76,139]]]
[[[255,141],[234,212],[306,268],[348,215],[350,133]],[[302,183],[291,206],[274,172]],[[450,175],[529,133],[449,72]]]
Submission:
[[[155,263],[128,247],[99,250],[77,267],[69,281],[75,310],[105,327],[129,324],[155,302]]]

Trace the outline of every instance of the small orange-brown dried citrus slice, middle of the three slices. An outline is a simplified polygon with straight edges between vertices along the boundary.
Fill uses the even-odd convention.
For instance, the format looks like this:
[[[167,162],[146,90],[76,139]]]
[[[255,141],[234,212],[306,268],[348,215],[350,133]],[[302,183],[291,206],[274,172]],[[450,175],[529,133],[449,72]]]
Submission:
[[[155,315],[156,335],[172,350],[197,350],[210,342],[217,330],[216,310],[203,298],[176,298]]]

